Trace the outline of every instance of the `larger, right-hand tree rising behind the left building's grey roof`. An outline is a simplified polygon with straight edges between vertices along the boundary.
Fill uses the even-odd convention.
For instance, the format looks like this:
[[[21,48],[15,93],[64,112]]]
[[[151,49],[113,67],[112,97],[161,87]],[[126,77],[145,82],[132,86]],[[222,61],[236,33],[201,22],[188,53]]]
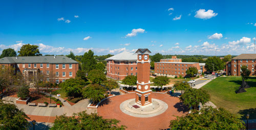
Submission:
[[[38,46],[36,45],[23,45],[22,48],[18,51],[18,56],[41,56]]]

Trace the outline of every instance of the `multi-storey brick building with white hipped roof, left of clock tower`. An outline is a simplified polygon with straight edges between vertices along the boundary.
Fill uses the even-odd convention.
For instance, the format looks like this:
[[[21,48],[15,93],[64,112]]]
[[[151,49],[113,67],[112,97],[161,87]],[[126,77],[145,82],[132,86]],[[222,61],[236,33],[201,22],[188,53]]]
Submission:
[[[122,80],[127,75],[137,75],[137,54],[122,52],[106,58],[106,76]]]

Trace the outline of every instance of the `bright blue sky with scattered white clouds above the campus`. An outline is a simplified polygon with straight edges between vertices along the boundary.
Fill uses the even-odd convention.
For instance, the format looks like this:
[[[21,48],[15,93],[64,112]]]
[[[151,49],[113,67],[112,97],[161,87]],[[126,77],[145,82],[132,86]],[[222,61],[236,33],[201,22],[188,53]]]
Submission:
[[[0,1],[0,53],[254,53],[256,1]]]

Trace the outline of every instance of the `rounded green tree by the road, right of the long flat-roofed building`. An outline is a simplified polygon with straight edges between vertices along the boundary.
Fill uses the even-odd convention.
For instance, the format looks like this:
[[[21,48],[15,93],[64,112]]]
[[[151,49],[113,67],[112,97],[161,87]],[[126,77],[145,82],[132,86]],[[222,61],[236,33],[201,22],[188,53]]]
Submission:
[[[207,71],[212,71],[212,64],[214,64],[214,71],[223,70],[225,68],[225,63],[223,62],[223,60],[216,56],[208,57],[205,60],[205,69]]]

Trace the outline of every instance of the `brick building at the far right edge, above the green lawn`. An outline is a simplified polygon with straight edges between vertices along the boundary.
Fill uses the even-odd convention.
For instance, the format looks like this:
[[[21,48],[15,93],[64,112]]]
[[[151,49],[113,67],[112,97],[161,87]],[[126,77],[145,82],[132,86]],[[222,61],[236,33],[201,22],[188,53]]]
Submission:
[[[226,63],[226,75],[241,76],[241,67],[247,66],[251,71],[250,75],[255,75],[256,54],[241,54]]]

